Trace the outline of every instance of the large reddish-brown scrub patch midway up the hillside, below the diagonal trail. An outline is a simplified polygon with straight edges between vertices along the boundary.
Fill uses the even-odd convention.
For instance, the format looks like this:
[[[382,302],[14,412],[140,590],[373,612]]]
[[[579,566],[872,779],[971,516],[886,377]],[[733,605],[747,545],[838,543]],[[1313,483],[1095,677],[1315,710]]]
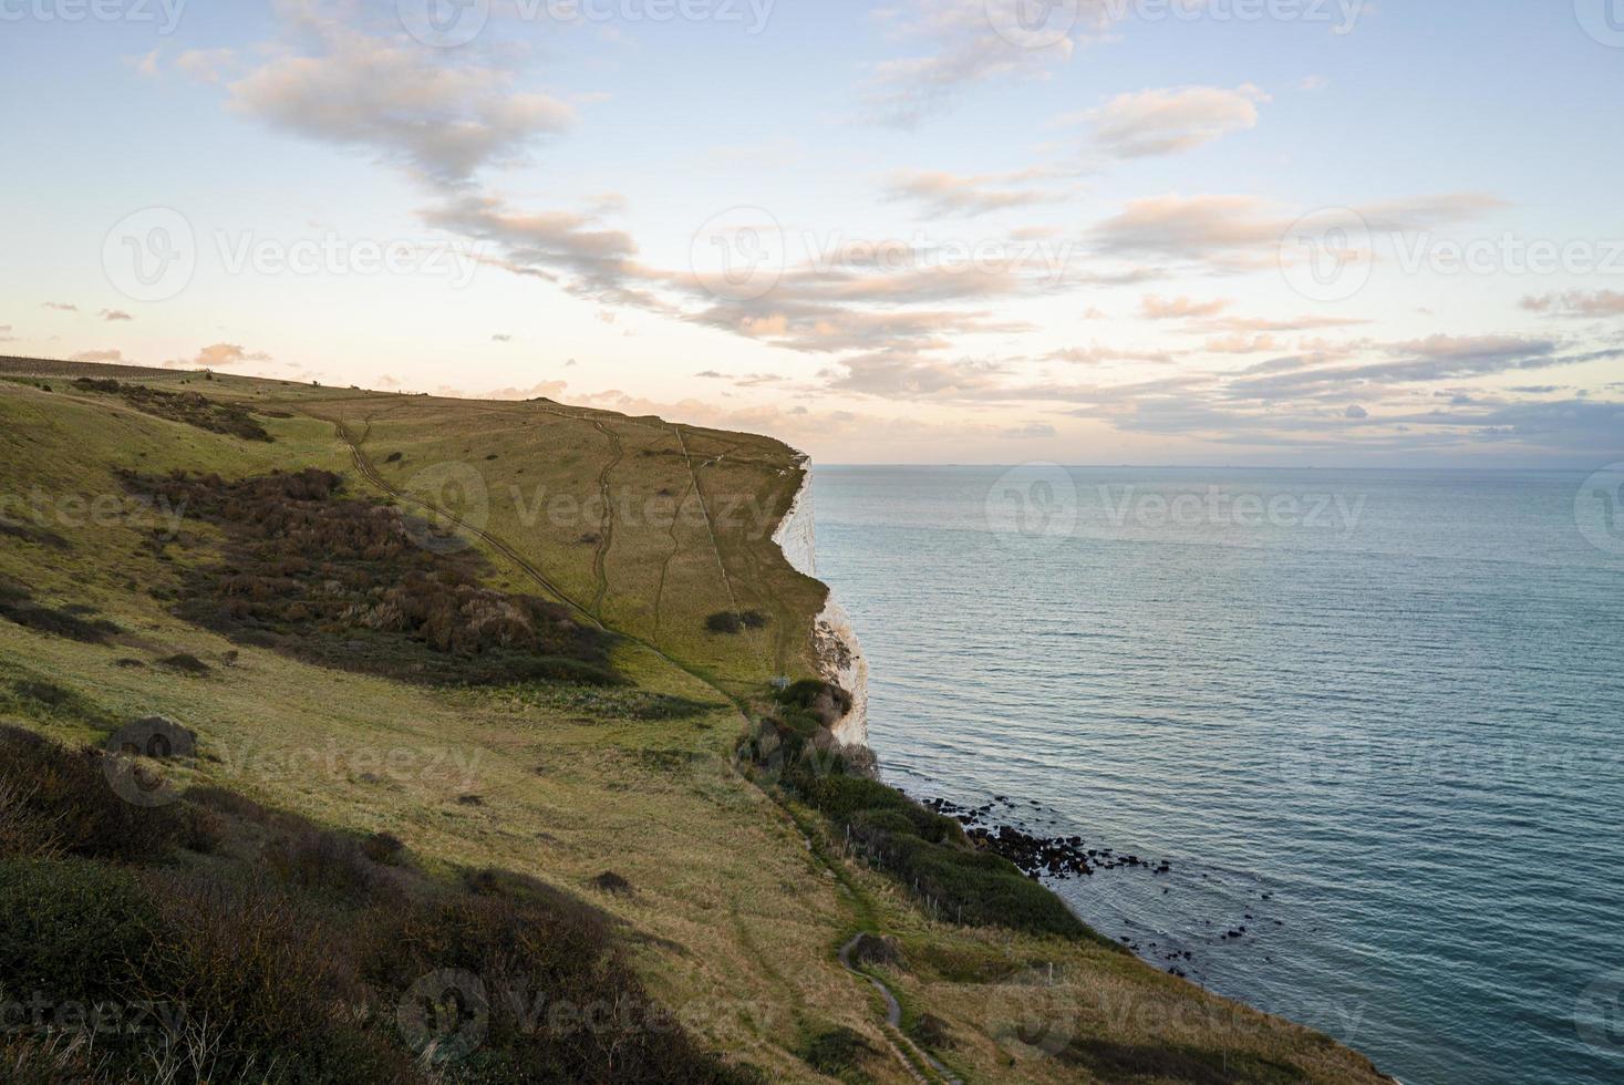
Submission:
[[[482,557],[419,546],[398,508],[341,497],[338,474],[125,482],[226,534],[224,560],[182,573],[177,612],[234,640],[422,684],[620,681],[609,637],[560,604],[486,588]]]

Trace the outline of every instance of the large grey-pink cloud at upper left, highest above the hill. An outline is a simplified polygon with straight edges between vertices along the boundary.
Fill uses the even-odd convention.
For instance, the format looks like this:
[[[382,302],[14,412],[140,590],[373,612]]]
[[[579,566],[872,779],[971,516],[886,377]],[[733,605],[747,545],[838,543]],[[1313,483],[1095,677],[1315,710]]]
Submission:
[[[231,109],[271,127],[458,184],[575,123],[568,104],[518,89],[507,70],[367,36],[312,8],[284,11],[309,50],[276,47],[227,88]]]

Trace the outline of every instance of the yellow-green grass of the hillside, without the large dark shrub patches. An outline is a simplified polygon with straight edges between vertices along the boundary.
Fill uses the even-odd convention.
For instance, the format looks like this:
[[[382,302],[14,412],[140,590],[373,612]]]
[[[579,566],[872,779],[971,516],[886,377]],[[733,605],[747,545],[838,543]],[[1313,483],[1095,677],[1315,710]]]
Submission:
[[[1091,939],[939,923],[844,859],[820,814],[739,767],[773,679],[815,674],[825,588],[770,538],[802,478],[780,442],[549,401],[114,374],[245,406],[261,442],[164,417],[162,398],[73,383],[101,367],[11,361],[0,374],[0,583],[31,593],[18,614],[45,616],[0,620],[5,721],[102,746],[161,715],[197,734],[197,757],[162,768],[177,789],[219,786],[346,838],[396,838],[427,882],[500,867],[562,890],[606,916],[614,953],[685,1035],[767,1080],[1379,1080],[1324,1036]],[[422,538],[469,547],[490,590],[552,599],[611,633],[624,681],[435,685],[177,617],[187,573],[218,564],[227,539],[141,507],[119,473],[302,468],[339,473],[348,497],[460,525],[461,542]],[[706,630],[711,614],[744,611],[765,624]],[[75,638],[50,629],[57,616],[117,632]],[[200,666],[174,663],[185,658]],[[245,840],[162,864],[224,869]],[[895,994],[895,1027],[880,989],[840,960],[857,932],[887,947],[859,966]],[[0,975],[0,996],[16,994]],[[18,1059],[28,1043],[0,1051]]]

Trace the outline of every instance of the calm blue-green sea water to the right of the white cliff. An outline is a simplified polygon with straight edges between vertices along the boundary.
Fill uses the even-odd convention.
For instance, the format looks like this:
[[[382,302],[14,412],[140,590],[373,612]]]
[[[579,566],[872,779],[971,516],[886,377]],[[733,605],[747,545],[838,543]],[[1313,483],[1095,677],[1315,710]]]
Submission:
[[[818,573],[887,780],[1171,862],[1056,884],[1099,931],[1406,1083],[1624,1082],[1624,523],[1587,541],[1583,481],[820,468]]]

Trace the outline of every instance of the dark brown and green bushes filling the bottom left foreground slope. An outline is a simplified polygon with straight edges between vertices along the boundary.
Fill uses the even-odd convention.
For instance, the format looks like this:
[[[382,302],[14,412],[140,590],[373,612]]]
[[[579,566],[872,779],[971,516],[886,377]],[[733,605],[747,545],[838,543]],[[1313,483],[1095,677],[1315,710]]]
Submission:
[[[6,1080],[762,1080],[648,996],[601,911],[536,879],[440,882],[396,848],[378,862],[377,838],[219,788],[175,804],[214,819],[208,861],[67,848],[55,828],[107,815],[109,799],[122,830],[185,840],[175,809],[112,799],[99,759],[0,731],[0,767],[54,780],[19,807],[0,778],[0,999],[138,1005],[143,1027],[86,1049],[49,1018],[11,1020]]]

